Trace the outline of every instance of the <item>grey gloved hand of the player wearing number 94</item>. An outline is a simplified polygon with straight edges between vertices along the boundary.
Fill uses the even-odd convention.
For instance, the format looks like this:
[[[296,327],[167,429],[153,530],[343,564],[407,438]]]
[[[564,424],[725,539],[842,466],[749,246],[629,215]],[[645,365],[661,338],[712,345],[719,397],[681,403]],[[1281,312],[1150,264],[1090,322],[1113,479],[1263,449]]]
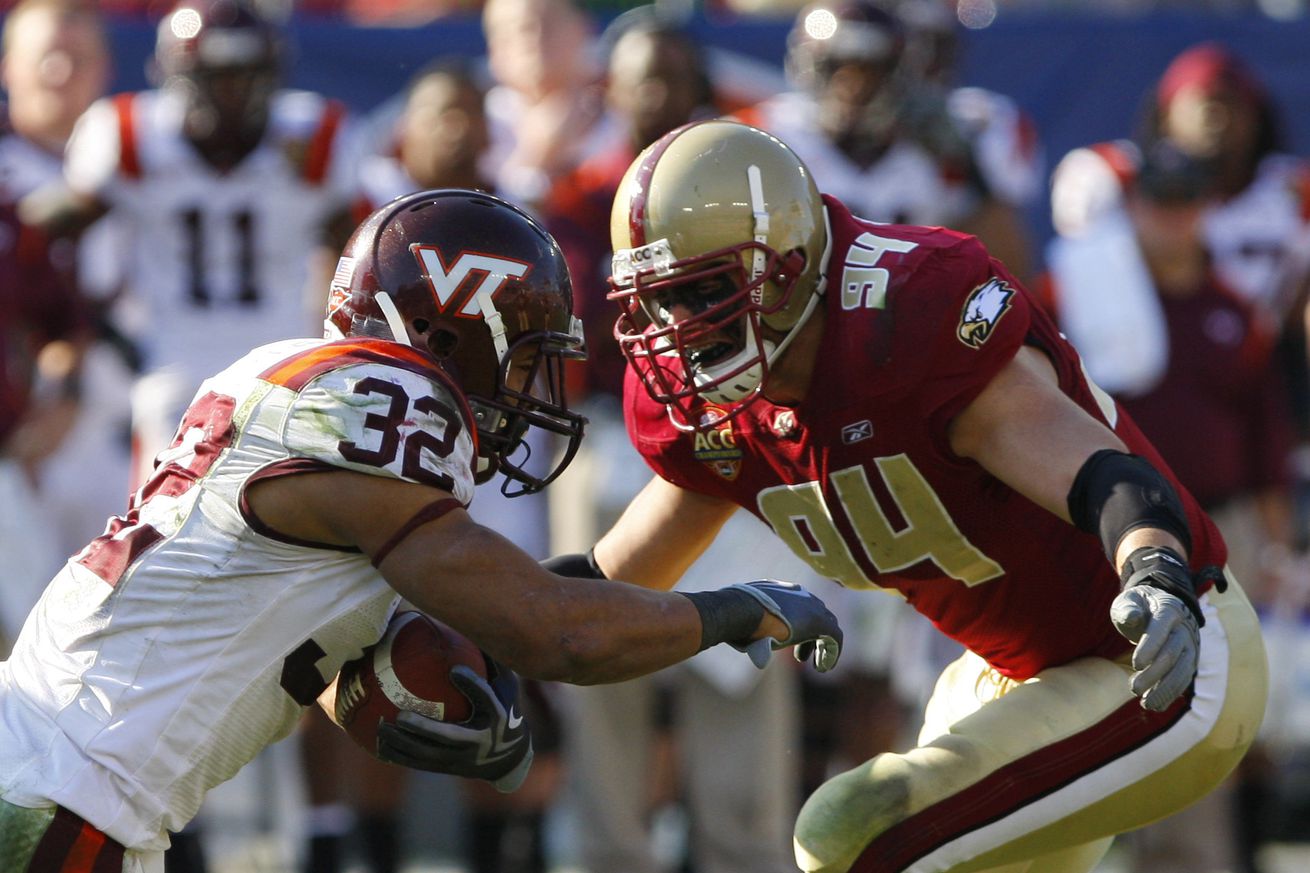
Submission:
[[[1144,708],[1162,712],[1196,678],[1205,624],[1196,583],[1176,552],[1158,547],[1133,551],[1121,578],[1124,590],[1110,606],[1110,620],[1137,645],[1133,693]]]

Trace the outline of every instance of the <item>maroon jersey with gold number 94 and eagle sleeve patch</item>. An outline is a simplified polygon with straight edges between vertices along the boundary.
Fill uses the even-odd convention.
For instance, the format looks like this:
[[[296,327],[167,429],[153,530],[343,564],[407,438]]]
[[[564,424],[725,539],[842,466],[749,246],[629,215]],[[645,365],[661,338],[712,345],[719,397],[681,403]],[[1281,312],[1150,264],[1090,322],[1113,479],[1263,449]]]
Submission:
[[[825,204],[828,321],[804,401],[760,401],[684,433],[629,371],[638,451],[671,482],[758,515],[819,573],[895,589],[1006,676],[1127,651],[1108,617],[1119,578],[1099,539],[951,452],[951,418],[1020,346],[1035,346],[1074,402],[1174,481],[1196,569],[1226,558],[1213,523],[977,240]]]

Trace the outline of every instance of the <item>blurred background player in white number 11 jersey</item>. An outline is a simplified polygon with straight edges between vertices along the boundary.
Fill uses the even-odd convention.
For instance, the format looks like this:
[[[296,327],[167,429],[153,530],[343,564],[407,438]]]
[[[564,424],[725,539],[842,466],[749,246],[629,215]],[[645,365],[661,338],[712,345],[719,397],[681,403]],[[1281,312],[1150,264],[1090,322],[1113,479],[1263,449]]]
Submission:
[[[182,0],[159,25],[160,87],[97,101],[68,143],[64,185],[25,216],[73,232],[113,211],[131,228],[147,375],[134,396],[138,469],[168,444],[200,379],[313,324],[313,252],[350,232],[343,106],[279,88],[282,39],[245,0]]]

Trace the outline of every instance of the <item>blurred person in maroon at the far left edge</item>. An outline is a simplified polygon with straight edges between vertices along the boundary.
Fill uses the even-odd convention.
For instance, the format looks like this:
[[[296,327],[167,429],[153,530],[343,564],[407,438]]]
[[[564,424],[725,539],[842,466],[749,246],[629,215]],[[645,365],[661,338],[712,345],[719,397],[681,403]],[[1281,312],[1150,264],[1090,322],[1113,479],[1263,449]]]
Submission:
[[[3,45],[0,77],[8,111],[0,109],[0,257],[17,273],[0,284],[9,313],[0,388],[7,440],[0,547],[8,566],[0,636],[12,640],[45,587],[42,574],[51,575],[71,549],[103,528],[127,481],[126,475],[114,477],[114,440],[101,429],[85,427],[89,416],[79,408],[84,398],[97,405],[105,392],[98,372],[86,374],[90,391],[81,391],[86,336],[85,308],[76,295],[76,253],[67,242],[50,242],[20,227],[13,212],[18,199],[59,176],[73,123],[103,93],[109,79],[103,29],[88,3],[26,0],[5,17]],[[80,439],[75,430],[92,431],[92,439]],[[77,464],[77,455],[56,455],[68,443],[85,452],[89,464]],[[60,475],[72,469],[72,478]],[[92,513],[98,509],[89,523],[86,510],[79,515],[76,509],[88,505]],[[77,528],[72,532],[66,530],[67,511],[81,522],[72,524]]]

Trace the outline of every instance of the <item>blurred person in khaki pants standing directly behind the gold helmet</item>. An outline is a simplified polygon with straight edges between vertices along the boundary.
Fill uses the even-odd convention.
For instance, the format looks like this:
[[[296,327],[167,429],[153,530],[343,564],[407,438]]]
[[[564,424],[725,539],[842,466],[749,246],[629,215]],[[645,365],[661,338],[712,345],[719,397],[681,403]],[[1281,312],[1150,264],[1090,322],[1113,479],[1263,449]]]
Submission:
[[[646,146],[696,118],[718,114],[702,47],[655,7],[620,16],[603,34],[605,97],[622,138],[552,186],[544,214],[569,258],[588,360],[571,389],[586,398],[587,440],[552,485],[554,551],[586,548],[650,478],[622,423],[624,359],[605,292],[609,214],[618,181]],[[679,583],[717,585],[736,573],[810,579],[812,572],[747,514]],[[567,688],[569,800],[588,873],[656,873],[685,863],[697,873],[794,870],[791,822],[799,809],[800,717],[794,665],[764,671],[703,651],[686,665],[609,687]],[[760,767],[758,762],[770,762]],[[663,811],[680,840],[662,851]],[[665,831],[667,832],[667,831]],[[677,855],[671,859],[667,855]]]

